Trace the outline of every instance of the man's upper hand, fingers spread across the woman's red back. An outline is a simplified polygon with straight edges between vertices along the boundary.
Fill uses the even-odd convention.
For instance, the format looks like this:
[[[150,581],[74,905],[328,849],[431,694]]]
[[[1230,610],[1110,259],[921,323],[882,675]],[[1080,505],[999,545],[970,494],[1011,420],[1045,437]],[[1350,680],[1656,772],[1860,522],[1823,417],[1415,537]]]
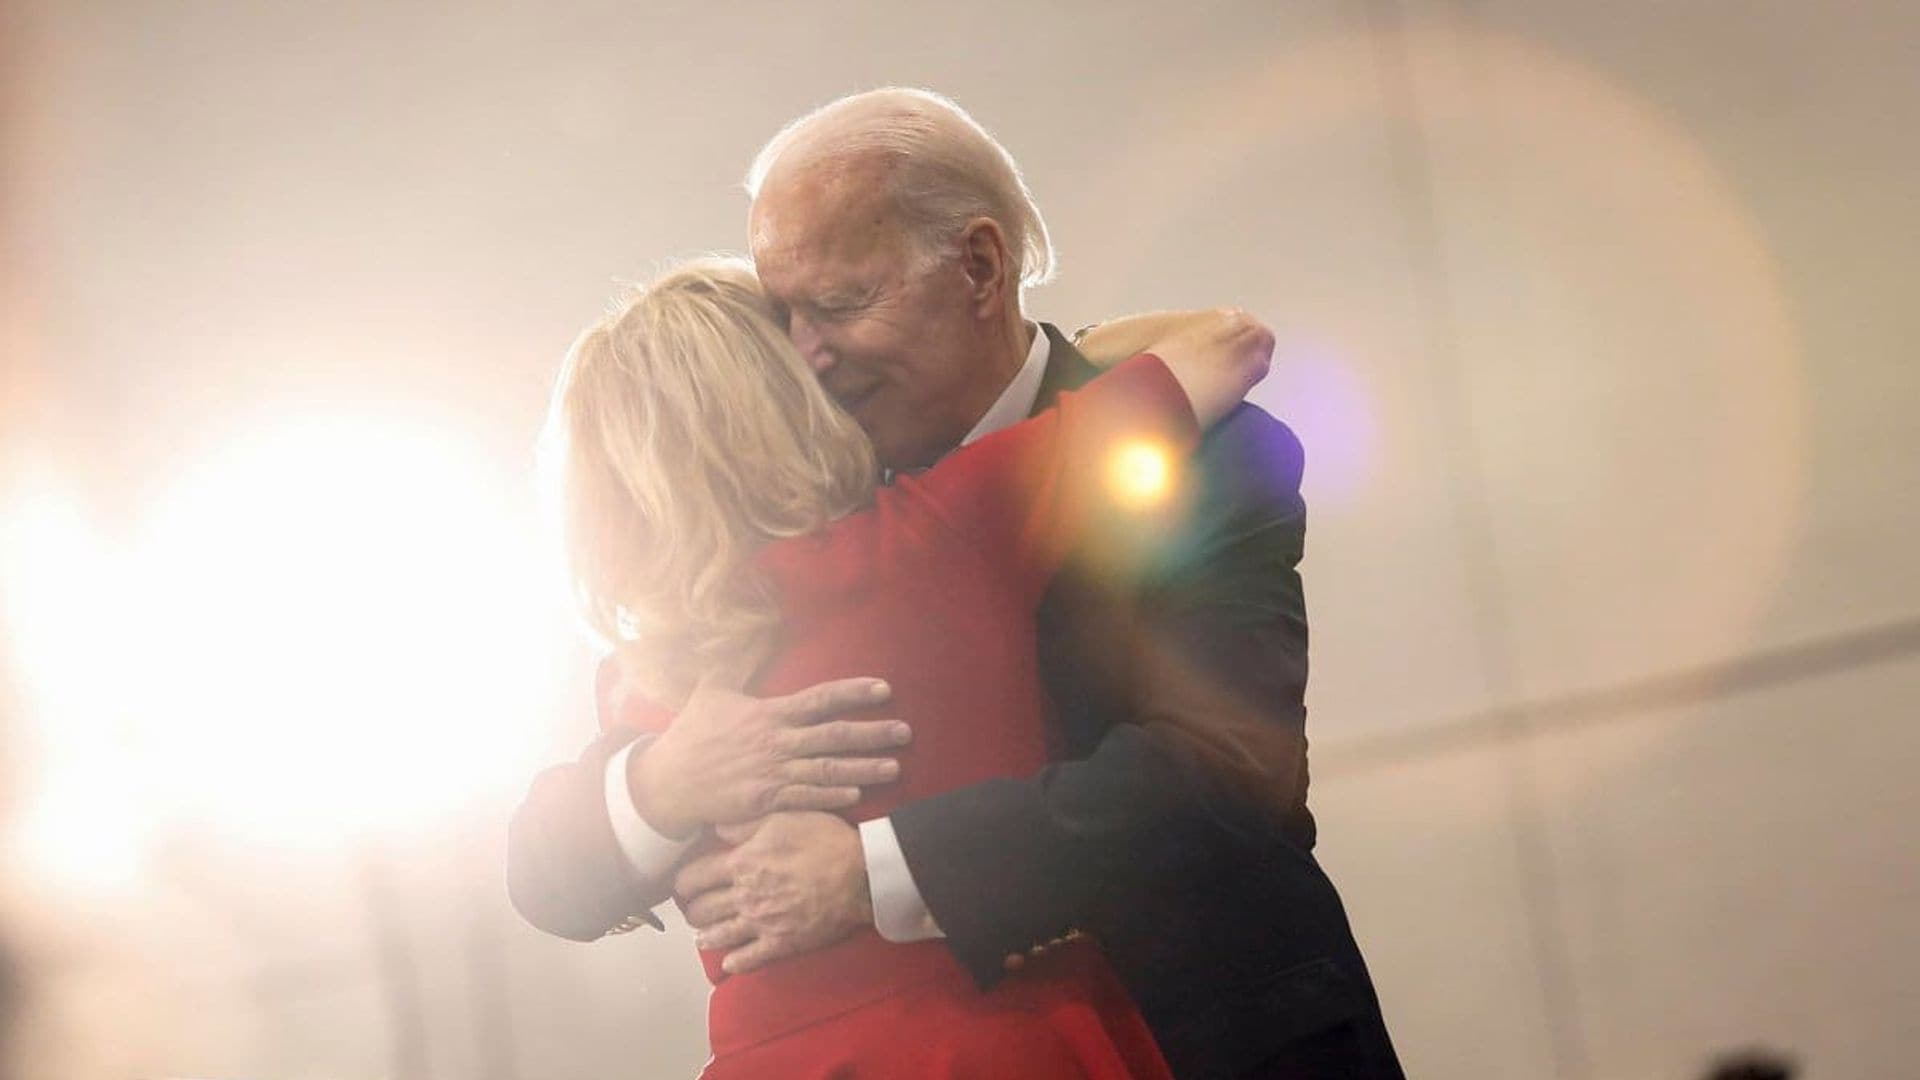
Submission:
[[[666,836],[774,811],[829,811],[900,774],[900,721],[833,719],[891,696],[877,678],[822,682],[785,698],[749,698],[703,682],[651,746],[628,759],[634,809]],[[868,755],[868,757],[860,757]]]

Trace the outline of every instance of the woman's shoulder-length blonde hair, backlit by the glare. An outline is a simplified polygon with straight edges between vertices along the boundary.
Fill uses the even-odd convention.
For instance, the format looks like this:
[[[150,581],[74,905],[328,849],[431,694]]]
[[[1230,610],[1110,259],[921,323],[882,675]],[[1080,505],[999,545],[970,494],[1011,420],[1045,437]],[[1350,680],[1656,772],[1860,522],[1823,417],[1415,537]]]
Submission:
[[[745,680],[778,630],[766,540],[872,500],[860,427],[820,388],[745,259],[691,259],[574,342],[543,455],[588,626],[655,701]]]

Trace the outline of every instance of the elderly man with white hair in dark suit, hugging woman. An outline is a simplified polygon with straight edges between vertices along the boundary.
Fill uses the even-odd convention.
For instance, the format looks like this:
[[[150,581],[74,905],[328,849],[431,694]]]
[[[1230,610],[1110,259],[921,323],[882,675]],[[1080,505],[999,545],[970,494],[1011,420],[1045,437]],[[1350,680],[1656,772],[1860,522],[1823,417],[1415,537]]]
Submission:
[[[1027,319],[1052,275],[1012,158],[952,102],[887,88],[783,129],[749,173],[768,296],[828,392],[910,471],[1094,367]],[[900,724],[858,680],[705,688],[664,734],[611,728],[515,817],[515,903],[593,940],[674,894],[751,970],[874,926],[943,938],[981,988],[1092,936],[1179,1076],[1398,1078],[1306,805],[1306,509],[1292,432],[1240,405],[1160,490],[1156,528],[1083,544],[1039,611],[1054,763],[852,824]],[[858,673],[849,673],[858,675]],[[868,717],[868,713],[854,713]],[[912,717],[900,717],[908,724]],[[732,851],[691,836],[774,811]]]

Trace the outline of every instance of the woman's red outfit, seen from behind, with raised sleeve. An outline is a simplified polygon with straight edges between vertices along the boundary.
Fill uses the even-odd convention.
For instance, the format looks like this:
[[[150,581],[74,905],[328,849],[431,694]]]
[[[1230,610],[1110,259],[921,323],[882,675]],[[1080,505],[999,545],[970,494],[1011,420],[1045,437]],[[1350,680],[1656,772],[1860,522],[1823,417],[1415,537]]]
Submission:
[[[1181,457],[1196,436],[1179,384],[1140,356],[881,488],[872,509],[764,548],[783,646],[755,692],[879,675],[893,686],[887,715],[914,724],[900,778],[849,821],[1046,765],[1041,594],[1108,498],[1112,455],[1144,442]],[[607,705],[622,723],[664,723],[634,701]],[[714,982],[712,1078],[1169,1076],[1091,942],[1048,949],[991,992],[945,944],[897,945],[874,930],[739,976],[718,953],[701,959]]]

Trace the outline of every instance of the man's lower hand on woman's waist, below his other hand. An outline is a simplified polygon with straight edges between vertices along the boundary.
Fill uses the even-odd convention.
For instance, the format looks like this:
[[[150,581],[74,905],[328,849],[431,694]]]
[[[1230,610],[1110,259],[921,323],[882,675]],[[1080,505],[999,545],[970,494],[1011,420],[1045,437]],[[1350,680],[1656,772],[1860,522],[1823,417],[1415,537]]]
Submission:
[[[703,949],[741,974],[874,924],[860,830],[829,813],[778,813],[720,828],[739,844],[682,867],[674,894]]]

